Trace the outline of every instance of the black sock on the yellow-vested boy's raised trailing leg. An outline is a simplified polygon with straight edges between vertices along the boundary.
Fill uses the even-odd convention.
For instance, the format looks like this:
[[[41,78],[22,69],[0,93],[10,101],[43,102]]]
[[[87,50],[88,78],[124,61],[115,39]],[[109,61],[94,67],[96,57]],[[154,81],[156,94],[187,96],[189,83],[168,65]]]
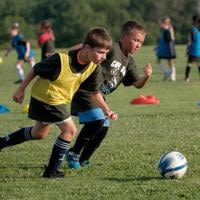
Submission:
[[[33,127],[21,128],[3,138],[1,138],[0,149],[4,147],[20,144],[25,141],[32,140],[31,129]]]

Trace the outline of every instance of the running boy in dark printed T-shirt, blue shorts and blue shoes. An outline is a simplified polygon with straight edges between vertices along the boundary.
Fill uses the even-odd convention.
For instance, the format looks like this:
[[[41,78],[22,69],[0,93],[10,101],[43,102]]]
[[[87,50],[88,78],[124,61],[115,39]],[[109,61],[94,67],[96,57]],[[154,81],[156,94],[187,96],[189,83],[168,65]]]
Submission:
[[[147,64],[144,76],[139,77],[135,61],[130,55],[139,51],[145,36],[144,28],[135,21],[128,21],[122,26],[120,41],[114,44],[107,59],[101,64],[101,92],[104,95],[112,93],[121,83],[136,88],[145,85],[152,74],[152,67]],[[109,129],[107,116],[88,98],[84,89],[82,84],[72,100],[72,114],[77,115],[80,123],[84,124],[67,156],[68,166],[74,169],[89,164],[90,157],[100,146]]]

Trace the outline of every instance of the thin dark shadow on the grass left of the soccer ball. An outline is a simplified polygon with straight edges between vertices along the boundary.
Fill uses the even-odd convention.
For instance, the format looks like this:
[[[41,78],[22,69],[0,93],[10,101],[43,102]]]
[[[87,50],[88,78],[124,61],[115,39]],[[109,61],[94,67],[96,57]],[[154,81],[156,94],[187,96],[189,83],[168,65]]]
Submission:
[[[118,177],[106,177],[102,178],[103,180],[106,181],[111,181],[111,182],[133,182],[133,181],[151,181],[151,180],[164,180],[162,177],[158,176],[141,176],[141,177],[127,177],[127,178],[118,178]]]

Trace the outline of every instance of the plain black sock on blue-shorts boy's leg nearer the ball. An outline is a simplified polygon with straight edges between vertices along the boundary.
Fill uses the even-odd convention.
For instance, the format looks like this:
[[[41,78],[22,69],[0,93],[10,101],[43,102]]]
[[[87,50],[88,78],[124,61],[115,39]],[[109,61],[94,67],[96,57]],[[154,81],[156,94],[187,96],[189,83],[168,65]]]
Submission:
[[[92,154],[100,146],[103,139],[106,137],[109,127],[103,127],[96,136],[90,140],[83,149],[80,156],[80,163],[84,160],[89,160]]]

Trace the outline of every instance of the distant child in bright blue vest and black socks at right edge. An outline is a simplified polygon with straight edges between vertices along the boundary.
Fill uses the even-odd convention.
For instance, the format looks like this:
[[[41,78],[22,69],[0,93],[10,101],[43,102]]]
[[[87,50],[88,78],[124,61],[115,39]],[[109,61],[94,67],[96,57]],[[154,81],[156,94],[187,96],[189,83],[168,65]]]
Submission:
[[[188,61],[185,68],[185,81],[190,82],[190,71],[193,63],[196,63],[200,76],[200,17],[192,17],[192,28],[188,35],[187,55]]]

